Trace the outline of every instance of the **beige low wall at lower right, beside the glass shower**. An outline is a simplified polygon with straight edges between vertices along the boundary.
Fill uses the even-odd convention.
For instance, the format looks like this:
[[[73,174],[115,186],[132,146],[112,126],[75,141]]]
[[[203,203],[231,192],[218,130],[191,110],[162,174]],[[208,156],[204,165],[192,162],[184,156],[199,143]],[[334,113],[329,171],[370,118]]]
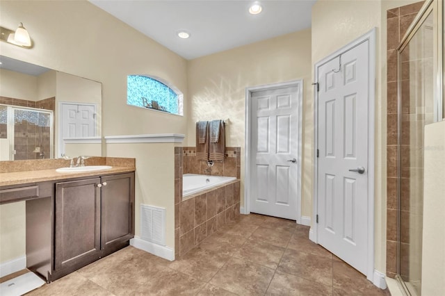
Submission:
[[[425,126],[422,295],[445,295],[445,121]]]

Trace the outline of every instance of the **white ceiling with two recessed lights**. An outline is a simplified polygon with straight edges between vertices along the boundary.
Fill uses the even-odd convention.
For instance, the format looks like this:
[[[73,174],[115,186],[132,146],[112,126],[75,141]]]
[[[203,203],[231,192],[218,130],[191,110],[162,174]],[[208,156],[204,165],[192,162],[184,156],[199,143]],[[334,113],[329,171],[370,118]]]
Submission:
[[[263,10],[250,15],[247,0],[90,0],[188,60],[311,26],[316,0],[259,1]],[[181,39],[177,31],[191,34]]]

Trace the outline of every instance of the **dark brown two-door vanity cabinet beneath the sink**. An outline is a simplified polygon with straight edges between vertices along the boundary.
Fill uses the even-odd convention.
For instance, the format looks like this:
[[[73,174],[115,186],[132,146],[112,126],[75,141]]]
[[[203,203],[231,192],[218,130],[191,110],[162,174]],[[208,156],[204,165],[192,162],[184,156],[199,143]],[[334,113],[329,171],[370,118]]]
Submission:
[[[134,174],[58,182],[55,205],[51,280],[129,245],[134,235]]]

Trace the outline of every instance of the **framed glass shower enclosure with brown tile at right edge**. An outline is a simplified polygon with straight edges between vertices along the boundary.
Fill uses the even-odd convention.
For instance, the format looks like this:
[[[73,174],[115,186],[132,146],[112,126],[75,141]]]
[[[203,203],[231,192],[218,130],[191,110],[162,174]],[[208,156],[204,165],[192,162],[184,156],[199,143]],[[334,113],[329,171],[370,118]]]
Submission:
[[[398,47],[398,258],[396,278],[421,295],[423,131],[443,117],[442,1],[426,1]]]

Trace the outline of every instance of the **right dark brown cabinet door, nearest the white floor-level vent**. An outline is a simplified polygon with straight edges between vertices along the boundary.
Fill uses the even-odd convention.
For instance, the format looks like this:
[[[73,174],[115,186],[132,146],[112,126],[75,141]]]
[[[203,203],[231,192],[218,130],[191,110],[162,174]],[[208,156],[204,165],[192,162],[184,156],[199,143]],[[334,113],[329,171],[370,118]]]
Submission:
[[[102,249],[134,235],[134,174],[102,177]]]

